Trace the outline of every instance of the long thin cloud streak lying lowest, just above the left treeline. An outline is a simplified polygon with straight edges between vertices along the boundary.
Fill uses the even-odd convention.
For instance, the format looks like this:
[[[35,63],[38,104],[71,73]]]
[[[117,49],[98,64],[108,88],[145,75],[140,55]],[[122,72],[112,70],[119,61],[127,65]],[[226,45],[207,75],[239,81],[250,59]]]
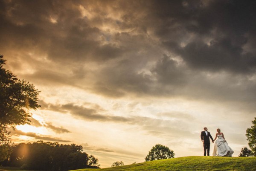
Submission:
[[[13,134],[13,135],[17,135],[17,136],[20,136],[20,135],[23,135],[23,136],[30,136],[30,137],[33,137],[33,138],[35,138],[35,139],[41,139],[41,140],[46,140],[46,141],[70,142],[69,140],[63,140],[63,139],[53,138],[53,137],[51,137],[51,136],[43,136],[43,135],[40,135],[40,134],[37,134],[37,133],[32,133],[32,132],[25,133],[25,132],[22,132],[21,130],[12,131],[12,134]]]

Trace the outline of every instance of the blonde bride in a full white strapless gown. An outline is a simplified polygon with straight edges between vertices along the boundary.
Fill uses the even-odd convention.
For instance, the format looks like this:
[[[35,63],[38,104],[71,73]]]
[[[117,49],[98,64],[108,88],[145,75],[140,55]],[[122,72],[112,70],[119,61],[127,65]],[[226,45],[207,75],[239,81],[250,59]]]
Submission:
[[[214,144],[212,156],[232,157],[234,151],[227,145],[227,142],[224,138],[224,134],[221,132],[221,129],[219,128],[217,129],[215,139],[217,140]],[[213,141],[215,141],[215,139]]]

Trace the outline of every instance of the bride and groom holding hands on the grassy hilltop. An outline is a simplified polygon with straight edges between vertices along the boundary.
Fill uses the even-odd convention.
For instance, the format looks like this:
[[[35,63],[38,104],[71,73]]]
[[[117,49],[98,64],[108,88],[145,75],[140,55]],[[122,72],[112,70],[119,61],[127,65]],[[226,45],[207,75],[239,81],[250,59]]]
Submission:
[[[206,156],[206,153],[207,153],[207,156],[209,156],[209,151],[210,151],[209,138],[212,139],[212,136],[210,132],[208,132],[208,129],[205,127],[204,131],[201,132],[201,140],[202,142],[204,142],[204,156]],[[224,134],[221,132],[219,128],[217,129],[215,139],[212,139],[212,142],[213,143],[215,142],[212,156],[232,157],[232,154],[234,153],[234,151],[227,145],[227,142],[224,138]]]

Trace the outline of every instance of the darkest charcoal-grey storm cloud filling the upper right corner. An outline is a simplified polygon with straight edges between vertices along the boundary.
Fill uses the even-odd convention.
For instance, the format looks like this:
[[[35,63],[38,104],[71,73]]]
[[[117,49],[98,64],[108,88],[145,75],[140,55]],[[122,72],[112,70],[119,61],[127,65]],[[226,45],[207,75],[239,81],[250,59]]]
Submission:
[[[159,29],[156,27],[154,30],[163,44],[195,69],[254,73],[256,53],[253,49],[245,49],[245,46],[251,47],[255,41],[256,2],[198,2],[187,1],[183,6],[181,2],[176,4],[174,11],[179,11],[177,13],[171,9],[174,8],[171,3],[160,3],[163,10],[157,9],[153,15],[162,16],[162,22]],[[182,43],[186,46],[183,47]]]

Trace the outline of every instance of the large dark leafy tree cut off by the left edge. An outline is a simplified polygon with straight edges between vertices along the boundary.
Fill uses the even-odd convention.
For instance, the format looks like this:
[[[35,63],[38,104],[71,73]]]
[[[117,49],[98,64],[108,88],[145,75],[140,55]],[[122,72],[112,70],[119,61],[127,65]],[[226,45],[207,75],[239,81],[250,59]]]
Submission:
[[[3,55],[0,55],[0,140],[8,140],[8,128],[30,122],[29,109],[41,107],[38,104],[39,91],[33,84],[18,79],[11,71],[3,68]]]

